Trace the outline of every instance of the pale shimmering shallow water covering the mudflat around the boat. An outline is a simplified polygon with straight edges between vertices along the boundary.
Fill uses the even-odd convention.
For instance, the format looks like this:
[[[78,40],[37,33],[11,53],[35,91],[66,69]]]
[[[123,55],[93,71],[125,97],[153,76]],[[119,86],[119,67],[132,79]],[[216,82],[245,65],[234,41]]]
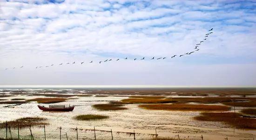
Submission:
[[[25,90],[25,89],[24,89]],[[30,90],[30,89],[26,89]],[[43,90],[43,89],[41,89]],[[31,90],[30,90],[31,91]],[[73,91],[73,90],[72,90]],[[36,91],[31,91],[36,92]],[[26,98],[33,99],[45,96],[28,96],[17,95],[12,97],[4,97],[1,99],[13,98]],[[181,96],[179,96],[181,97]],[[186,96],[187,97],[187,96]],[[93,104],[108,103],[108,101],[119,101],[128,97],[71,97],[79,99],[67,100],[67,102],[55,103],[65,105],[75,105],[72,112],[46,112],[41,111],[36,102],[21,104],[9,108],[3,108],[7,104],[0,104],[0,121],[10,121],[20,117],[40,116],[48,119],[50,125],[46,127],[47,140],[59,139],[59,128],[62,127],[62,137],[66,139],[65,132],[68,137],[76,139],[76,132],[70,128],[83,128],[98,130],[122,131],[157,134],[160,136],[176,137],[177,134],[182,137],[190,137],[196,140],[201,140],[200,136],[203,135],[203,140],[224,140],[228,137],[229,140],[252,139],[256,137],[255,130],[241,130],[234,129],[222,122],[210,121],[195,121],[193,117],[199,115],[200,112],[183,112],[183,111],[162,111],[162,110],[146,110],[138,108],[137,104],[128,104],[127,110],[117,111],[98,111],[91,106]],[[48,106],[47,104],[41,104]],[[241,109],[241,108],[237,108]],[[110,118],[102,121],[76,121],[72,119],[74,115],[81,114],[99,114],[108,115]],[[16,130],[13,130],[16,132]],[[21,130],[21,134],[29,134],[28,130]],[[33,133],[36,138],[43,139],[43,128],[33,128]],[[94,132],[86,132],[85,130],[78,130],[80,138],[94,139]],[[113,133],[116,140],[133,140],[133,135],[116,134]],[[96,131],[97,139],[111,140],[111,134],[106,132]],[[195,137],[192,137],[195,136]],[[137,135],[136,140],[141,138],[149,138],[149,135]]]

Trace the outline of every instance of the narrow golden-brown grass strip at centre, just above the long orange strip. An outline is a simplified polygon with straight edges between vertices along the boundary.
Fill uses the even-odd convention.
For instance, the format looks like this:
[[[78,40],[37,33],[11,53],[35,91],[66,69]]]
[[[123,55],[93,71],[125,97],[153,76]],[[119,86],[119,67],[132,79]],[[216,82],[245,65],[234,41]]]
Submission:
[[[123,103],[134,104],[134,103],[171,103],[177,102],[172,99],[145,99],[145,98],[129,98],[121,100]]]

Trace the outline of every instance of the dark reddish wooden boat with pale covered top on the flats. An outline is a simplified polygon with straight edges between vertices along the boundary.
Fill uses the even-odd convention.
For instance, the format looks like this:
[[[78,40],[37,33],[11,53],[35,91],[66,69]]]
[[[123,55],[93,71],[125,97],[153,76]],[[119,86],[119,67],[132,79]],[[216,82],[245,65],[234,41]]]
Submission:
[[[40,106],[38,108],[43,111],[73,111],[74,106],[69,105],[69,107],[65,107],[65,105],[49,105],[49,107]]]

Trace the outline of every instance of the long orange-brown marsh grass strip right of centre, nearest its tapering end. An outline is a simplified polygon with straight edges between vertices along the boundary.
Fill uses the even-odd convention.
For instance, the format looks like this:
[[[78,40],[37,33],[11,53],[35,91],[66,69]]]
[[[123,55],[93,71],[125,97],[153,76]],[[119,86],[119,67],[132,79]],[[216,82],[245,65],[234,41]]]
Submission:
[[[141,104],[139,108],[173,111],[228,111],[230,107],[204,104]]]

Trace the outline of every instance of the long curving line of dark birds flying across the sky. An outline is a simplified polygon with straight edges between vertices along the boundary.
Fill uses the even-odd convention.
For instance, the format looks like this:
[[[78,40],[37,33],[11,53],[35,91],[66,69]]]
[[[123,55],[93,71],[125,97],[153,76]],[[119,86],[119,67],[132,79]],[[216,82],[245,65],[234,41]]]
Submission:
[[[207,33],[207,34],[205,34],[205,37],[204,37],[204,39],[202,40],[202,41],[200,41],[198,44],[196,44],[195,45],[195,51],[199,51],[200,49],[198,49],[199,47],[200,47],[200,45],[209,37],[209,35],[211,34],[211,33],[213,33],[212,32],[212,30],[213,30],[213,28],[211,28],[210,30],[209,30],[209,33]],[[190,55],[190,54],[192,54],[192,53],[194,53],[195,51],[191,51],[191,52],[187,52],[187,53],[185,53],[185,54],[182,54],[182,55],[179,55],[179,57],[182,57],[182,56],[184,56],[184,55]],[[174,55],[174,56],[172,56],[171,58],[173,58],[173,57],[176,57],[177,55]],[[153,60],[153,59],[156,59],[156,60],[159,60],[159,59],[166,59],[167,57],[158,57],[158,58],[155,58],[155,57],[152,57],[151,58],[151,60]],[[125,57],[124,58],[125,60],[127,60],[128,59],[128,57]],[[144,60],[145,59],[145,57],[143,57],[143,58],[141,58],[140,60]],[[120,59],[118,58],[118,59],[116,59],[115,61],[119,61]],[[137,58],[134,58],[134,61],[135,60],[137,60]],[[104,62],[108,62],[108,61],[112,61],[112,59],[106,59],[106,60],[104,60],[104,61],[100,61],[99,62],[99,64],[101,64],[101,63],[104,63]],[[93,61],[90,61],[89,63],[93,63]],[[70,63],[66,63],[66,64],[70,64]],[[75,62],[73,62],[72,64],[75,64]],[[81,64],[84,64],[84,62],[81,62]],[[61,63],[61,64],[59,64],[59,65],[63,65],[63,63]],[[54,66],[54,64],[51,64],[50,66]],[[43,66],[37,66],[37,67],[35,67],[36,69],[38,69],[38,68],[42,68]],[[49,66],[44,66],[44,67],[49,67]],[[23,68],[23,66],[21,66],[21,67],[19,67],[19,68]],[[15,67],[13,67],[13,69],[15,69]],[[6,68],[5,70],[8,70],[8,68]]]

